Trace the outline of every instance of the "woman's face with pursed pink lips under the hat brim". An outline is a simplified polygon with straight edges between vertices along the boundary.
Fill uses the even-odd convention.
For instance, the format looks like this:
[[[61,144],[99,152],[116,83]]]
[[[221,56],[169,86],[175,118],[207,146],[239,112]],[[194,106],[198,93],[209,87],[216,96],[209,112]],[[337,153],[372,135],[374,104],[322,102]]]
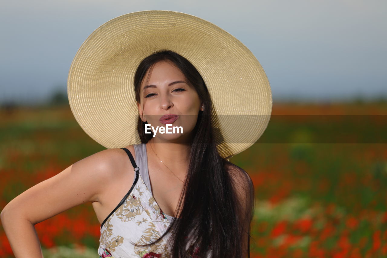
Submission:
[[[149,77],[148,77],[149,76]],[[156,63],[140,85],[140,103],[137,103],[142,121],[156,128],[171,126],[183,127],[183,133],[161,134],[155,137],[166,141],[185,139],[195,127],[202,103],[195,88],[184,74],[168,61]],[[164,115],[177,115],[177,119],[160,120]],[[152,131],[153,136],[153,131]]]

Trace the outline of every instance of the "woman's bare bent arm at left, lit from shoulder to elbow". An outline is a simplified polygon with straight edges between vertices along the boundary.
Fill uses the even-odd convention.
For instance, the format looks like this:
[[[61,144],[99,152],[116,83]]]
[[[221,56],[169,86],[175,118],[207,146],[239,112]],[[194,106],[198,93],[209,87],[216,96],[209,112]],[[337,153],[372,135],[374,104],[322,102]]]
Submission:
[[[1,221],[16,258],[43,257],[34,225],[89,201],[98,201],[101,185],[113,168],[114,149],[84,158],[59,174],[27,189],[1,212]]]

